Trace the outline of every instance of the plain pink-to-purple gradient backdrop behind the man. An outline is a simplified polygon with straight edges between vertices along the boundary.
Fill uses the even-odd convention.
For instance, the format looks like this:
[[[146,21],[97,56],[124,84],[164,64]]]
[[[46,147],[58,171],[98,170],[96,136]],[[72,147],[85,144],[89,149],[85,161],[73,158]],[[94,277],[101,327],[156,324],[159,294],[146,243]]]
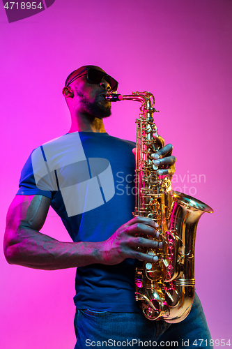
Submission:
[[[215,209],[197,230],[196,291],[212,339],[232,343],[231,15],[231,0],[56,0],[9,24],[0,4],[0,222],[3,237],[31,150],[69,130],[61,90],[72,70],[98,65],[120,82],[122,94],[152,91],[159,133],[177,157],[173,188],[190,190]],[[135,140],[139,104],[125,101],[112,109],[107,132]],[[193,174],[206,180],[191,183]],[[42,232],[70,241],[52,210]],[[75,269],[8,265],[2,251],[0,262],[1,348],[73,348]]]

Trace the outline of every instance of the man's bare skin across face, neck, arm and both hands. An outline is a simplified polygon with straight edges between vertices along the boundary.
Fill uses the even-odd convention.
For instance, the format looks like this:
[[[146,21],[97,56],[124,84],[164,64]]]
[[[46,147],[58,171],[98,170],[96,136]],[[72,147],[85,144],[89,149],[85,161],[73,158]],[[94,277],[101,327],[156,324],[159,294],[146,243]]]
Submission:
[[[105,132],[103,120],[88,112],[77,91],[80,91],[90,102],[97,101],[109,106],[110,102],[101,96],[109,90],[109,83],[105,80],[102,80],[99,85],[91,84],[86,80],[86,75],[79,77],[69,87],[64,87],[63,95],[72,118],[69,133]],[[160,140],[162,141],[161,138]],[[171,156],[171,151],[171,144],[167,144],[154,157],[154,161],[160,161],[159,167],[163,165],[165,167],[162,174],[170,176],[175,172],[176,162],[176,158]],[[156,255],[148,255],[138,250],[141,246],[162,248],[161,243],[158,246],[158,242],[151,239],[136,237],[137,234],[154,238],[158,236],[157,225],[150,218],[133,218],[121,225],[104,242],[59,242],[39,231],[45,223],[49,204],[50,199],[42,195],[15,196],[8,209],[3,243],[8,263],[54,270],[83,267],[95,263],[116,265],[125,258],[137,258],[147,262],[157,260]]]

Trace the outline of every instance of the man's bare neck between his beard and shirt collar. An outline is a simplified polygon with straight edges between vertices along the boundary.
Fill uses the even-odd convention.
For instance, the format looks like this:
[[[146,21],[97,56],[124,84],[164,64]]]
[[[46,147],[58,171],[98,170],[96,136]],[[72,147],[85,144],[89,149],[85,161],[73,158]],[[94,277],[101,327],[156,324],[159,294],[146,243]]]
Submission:
[[[93,117],[90,114],[75,114],[72,115],[72,124],[70,127],[70,131],[72,132],[98,132],[105,133],[105,127],[102,119],[98,119],[98,117]]]

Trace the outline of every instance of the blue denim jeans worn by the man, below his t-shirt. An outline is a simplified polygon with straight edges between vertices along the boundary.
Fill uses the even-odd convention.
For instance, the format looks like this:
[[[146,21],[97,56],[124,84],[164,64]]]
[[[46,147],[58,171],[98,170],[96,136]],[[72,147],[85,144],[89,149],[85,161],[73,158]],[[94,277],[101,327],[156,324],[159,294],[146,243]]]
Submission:
[[[76,312],[75,332],[75,349],[212,348],[206,317],[196,294],[190,314],[177,324],[164,320],[151,321],[143,313],[85,309]]]

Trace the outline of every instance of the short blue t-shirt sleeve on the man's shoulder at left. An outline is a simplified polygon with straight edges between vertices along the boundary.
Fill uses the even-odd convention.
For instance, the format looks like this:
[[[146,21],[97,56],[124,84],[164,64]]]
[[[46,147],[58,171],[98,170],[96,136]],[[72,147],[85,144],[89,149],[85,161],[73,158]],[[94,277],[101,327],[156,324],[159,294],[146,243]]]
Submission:
[[[42,147],[38,147],[32,151],[22,169],[20,189],[16,195],[43,195],[52,199],[54,191],[57,191],[56,173],[49,171]]]

